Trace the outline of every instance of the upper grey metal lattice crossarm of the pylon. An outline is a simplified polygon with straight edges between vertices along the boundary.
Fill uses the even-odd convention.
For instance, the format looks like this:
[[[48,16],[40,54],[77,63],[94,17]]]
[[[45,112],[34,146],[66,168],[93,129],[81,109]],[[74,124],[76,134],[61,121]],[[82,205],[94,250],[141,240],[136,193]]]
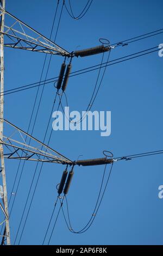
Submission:
[[[5,35],[6,42],[4,46],[33,52],[70,56],[69,52],[47,39],[46,36],[35,31],[35,29],[29,27],[14,15],[8,13],[8,11],[3,10],[0,4],[0,19],[2,19],[2,13],[5,14],[5,25],[4,31],[0,31],[0,33]]]

